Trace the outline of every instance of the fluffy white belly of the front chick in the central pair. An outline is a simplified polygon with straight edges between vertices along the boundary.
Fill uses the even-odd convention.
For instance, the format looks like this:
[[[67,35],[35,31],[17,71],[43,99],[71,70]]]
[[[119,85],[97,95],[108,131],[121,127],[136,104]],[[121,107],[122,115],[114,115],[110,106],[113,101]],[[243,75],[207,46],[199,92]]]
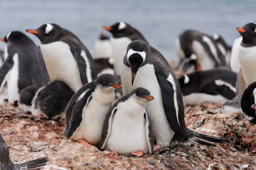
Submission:
[[[141,105],[130,101],[119,103],[104,150],[121,154],[148,153],[144,113],[145,108]]]

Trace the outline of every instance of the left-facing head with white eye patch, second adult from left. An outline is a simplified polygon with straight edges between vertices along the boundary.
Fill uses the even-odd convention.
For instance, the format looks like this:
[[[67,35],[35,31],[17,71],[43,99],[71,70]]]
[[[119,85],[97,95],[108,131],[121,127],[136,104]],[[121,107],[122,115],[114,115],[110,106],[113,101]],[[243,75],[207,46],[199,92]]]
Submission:
[[[58,40],[58,37],[62,34],[61,29],[57,24],[47,23],[35,30],[27,29],[26,31],[38,37],[42,44],[48,44]]]

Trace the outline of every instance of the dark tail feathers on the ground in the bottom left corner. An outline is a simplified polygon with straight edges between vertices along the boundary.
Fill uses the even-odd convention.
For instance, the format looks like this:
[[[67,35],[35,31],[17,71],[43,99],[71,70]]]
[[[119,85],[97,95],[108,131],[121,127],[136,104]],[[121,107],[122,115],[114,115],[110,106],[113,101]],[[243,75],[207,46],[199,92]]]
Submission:
[[[42,167],[46,165],[48,161],[49,161],[49,157],[43,157],[43,158],[39,158],[39,159],[35,159],[32,161],[19,164],[19,167],[22,170],[31,170],[32,168]],[[36,170],[40,170],[40,168]]]

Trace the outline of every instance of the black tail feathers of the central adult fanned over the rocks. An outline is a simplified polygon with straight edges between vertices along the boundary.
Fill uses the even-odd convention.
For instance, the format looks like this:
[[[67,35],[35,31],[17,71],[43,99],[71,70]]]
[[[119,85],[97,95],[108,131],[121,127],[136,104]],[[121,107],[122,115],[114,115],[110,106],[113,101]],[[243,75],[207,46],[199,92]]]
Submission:
[[[175,133],[170,146],[175,146],[178,144],[184,144],[189,142],[206,146],[216,146],[217,143],[228,142],[228,139],[208,136],[201,133],[196,133],[192,130],[189,130],[188,128],[186,129],[186,132],[183,134]]]

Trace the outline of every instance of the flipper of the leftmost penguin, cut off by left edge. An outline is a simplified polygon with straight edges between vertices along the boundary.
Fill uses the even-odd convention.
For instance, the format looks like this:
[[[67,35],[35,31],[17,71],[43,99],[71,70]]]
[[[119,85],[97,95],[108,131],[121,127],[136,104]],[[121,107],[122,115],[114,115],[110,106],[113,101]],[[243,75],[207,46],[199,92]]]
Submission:
[[[14,62],[12,57],[9,55],[6,60],[4,60],[2,67],[0,68],[0,93],[3,90],[3,86],[7,80],[7,74],[12,69]]]

